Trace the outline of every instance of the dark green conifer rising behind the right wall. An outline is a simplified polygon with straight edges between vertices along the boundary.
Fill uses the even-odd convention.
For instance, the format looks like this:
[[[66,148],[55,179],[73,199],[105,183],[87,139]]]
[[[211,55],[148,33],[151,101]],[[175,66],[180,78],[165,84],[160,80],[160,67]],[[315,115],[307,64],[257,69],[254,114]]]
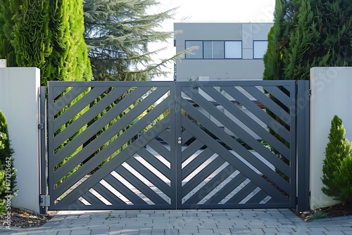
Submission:
[[[310,68],[352,65],[348,0],[276,0],[264,80],[309,80]]]

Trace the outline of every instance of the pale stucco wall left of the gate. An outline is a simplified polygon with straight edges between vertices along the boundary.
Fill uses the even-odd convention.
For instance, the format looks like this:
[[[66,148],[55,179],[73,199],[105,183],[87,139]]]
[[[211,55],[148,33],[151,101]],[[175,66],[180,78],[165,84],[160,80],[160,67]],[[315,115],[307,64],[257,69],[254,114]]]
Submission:
[[[0,68],[0,110],[8,122],[18,196],[11,205],[39,212],[39,87],[37,68]]]

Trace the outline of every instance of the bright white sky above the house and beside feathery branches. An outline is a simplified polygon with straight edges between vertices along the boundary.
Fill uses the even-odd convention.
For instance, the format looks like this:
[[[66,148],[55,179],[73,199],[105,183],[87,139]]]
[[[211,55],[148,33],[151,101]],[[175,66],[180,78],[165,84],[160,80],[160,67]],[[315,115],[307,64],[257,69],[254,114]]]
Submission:
[[[151,8],[151,13],[160,13],[172,8],[177,8],[173,20],[165,20],[162,28],[158,30],[173,31],[173,23],[180,22],[272,22],[275,0],[159,0],[161,4]],[[165,44],[151,44],[150,49],[167,46],[168,49],[159,53],[158,58],[170,58],[175,55],[173,39]],[[170,75],[158,77],[154,80],[172,80],[173,64],[168,65]]]

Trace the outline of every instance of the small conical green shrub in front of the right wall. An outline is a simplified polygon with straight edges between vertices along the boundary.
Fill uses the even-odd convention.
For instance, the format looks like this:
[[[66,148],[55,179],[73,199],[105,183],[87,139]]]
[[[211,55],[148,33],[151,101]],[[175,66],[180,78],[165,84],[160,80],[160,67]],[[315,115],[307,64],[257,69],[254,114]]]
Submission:
[[[322,167],[322,192],[343,203],[352,198],[352,148],[345,134],[341,118],[335,115]]]

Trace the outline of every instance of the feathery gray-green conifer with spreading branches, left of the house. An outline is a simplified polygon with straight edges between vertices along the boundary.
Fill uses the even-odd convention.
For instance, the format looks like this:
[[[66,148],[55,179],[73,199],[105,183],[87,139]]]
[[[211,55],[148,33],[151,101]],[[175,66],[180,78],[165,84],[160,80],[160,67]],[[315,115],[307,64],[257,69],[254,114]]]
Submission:
[[[163,20],[172,18],[176,8],[149,14],[155,0],[84,1],[85,40],[89,48],[94,80],[149,80],[165,75],[166,58],[153,64],[151,56],[165,48],[150,51],[151,42],[165,42],[172,32],[156,30]]]

